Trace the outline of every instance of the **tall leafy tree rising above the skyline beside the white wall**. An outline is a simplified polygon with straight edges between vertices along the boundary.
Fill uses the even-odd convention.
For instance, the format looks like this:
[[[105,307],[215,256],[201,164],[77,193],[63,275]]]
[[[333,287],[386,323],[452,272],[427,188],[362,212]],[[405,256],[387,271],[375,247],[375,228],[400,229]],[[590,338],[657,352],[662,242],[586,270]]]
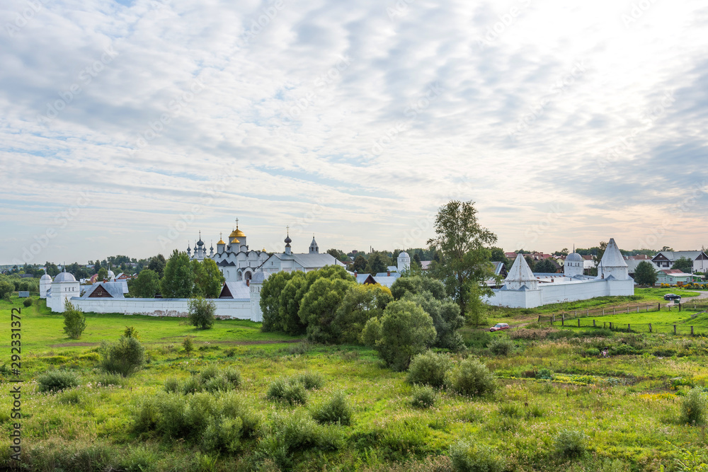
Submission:
[[[487,246],[496,243],[496,234],[480,226],[474,202],[452,200],[438,210],[435,218],[435,238],[428,244],[440,254],[440,264],[435,264],[435,274],[445,282],[447,293],[452,296],[461,313],[467,313],[470,297],[478,297],[476,289],[491,272]],[[490,289],[484,289],[491,292]]]

